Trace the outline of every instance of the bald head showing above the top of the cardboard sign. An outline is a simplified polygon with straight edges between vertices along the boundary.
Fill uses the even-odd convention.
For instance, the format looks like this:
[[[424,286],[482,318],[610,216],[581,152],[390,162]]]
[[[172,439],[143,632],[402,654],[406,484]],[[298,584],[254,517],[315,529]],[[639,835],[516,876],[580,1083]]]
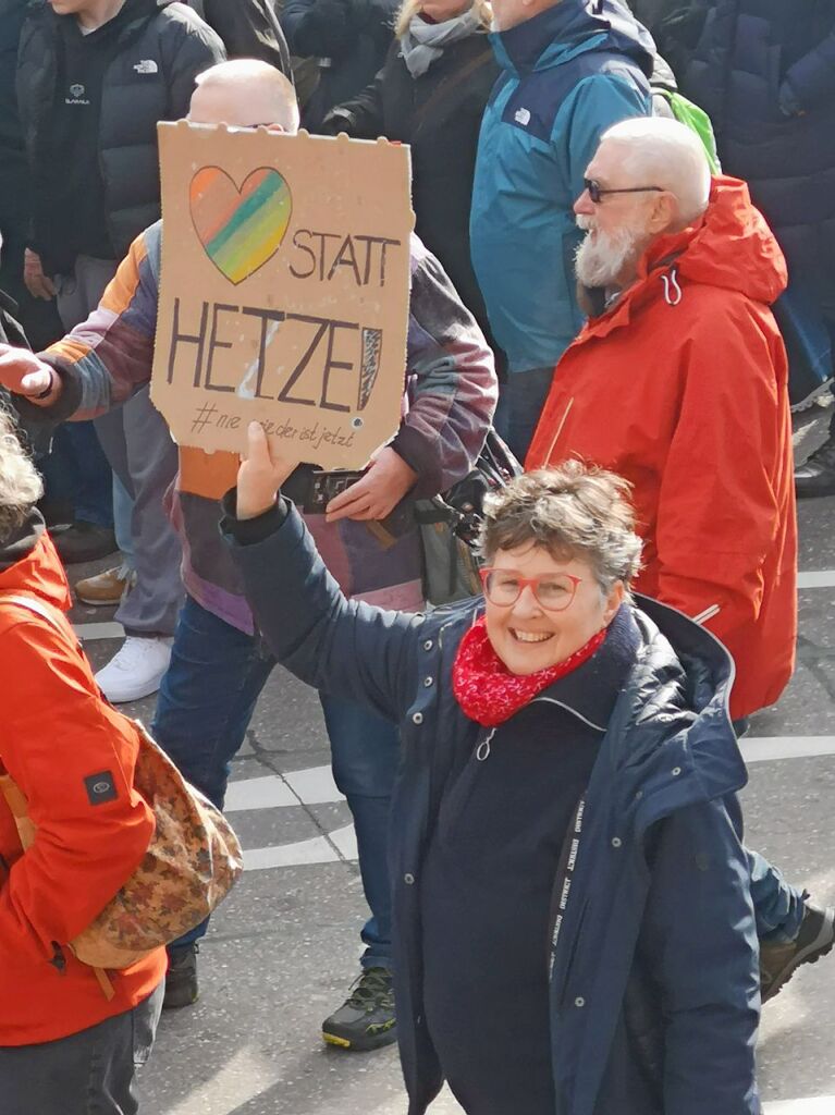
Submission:
[[[188,119],[195,124],[299,130],[295,90],[268,62],[254,58],[220,62],[201,74],[196,85],[188,109]]]

